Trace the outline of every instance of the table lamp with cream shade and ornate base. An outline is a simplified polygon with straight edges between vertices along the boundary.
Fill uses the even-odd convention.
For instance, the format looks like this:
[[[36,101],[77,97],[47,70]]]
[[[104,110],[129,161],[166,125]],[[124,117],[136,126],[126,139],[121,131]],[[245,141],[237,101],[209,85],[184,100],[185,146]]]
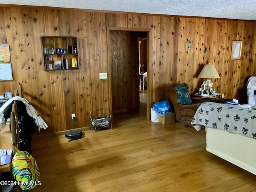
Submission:
[[[205,65],[202,71],[200,72],[198,78],[205,78],[206,80],[203,82],[205,86],[205,90],[208,92],[212,91],[212,80],[211,78],[220,78],[216,68],[213,64]]]

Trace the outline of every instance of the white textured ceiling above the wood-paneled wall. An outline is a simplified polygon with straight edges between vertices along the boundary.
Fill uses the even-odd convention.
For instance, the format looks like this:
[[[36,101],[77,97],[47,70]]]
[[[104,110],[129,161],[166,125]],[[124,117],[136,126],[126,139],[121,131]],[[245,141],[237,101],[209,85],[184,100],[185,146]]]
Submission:
[[[0,4],[256,20],[256,0],[0,0]]]

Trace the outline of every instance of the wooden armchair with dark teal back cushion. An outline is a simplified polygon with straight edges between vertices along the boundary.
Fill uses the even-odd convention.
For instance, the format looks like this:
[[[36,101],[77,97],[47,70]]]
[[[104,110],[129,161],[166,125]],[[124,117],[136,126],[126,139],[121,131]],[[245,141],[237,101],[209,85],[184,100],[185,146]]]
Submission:
[[[192,126],[190,123],[193,120],[197,108],[202,103],[192,103],[188,93],[188,84],[186,83],[174,86],[168,92],[174,107],[176,120],[185,125]]]

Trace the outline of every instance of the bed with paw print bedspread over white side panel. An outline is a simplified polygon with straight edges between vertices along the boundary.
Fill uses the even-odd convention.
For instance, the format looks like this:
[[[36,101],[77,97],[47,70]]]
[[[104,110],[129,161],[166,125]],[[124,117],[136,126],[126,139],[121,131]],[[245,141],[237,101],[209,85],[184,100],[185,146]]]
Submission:
[[[191,124],[204,126],[208,152],[256,175],[256,110],[205,102]]]

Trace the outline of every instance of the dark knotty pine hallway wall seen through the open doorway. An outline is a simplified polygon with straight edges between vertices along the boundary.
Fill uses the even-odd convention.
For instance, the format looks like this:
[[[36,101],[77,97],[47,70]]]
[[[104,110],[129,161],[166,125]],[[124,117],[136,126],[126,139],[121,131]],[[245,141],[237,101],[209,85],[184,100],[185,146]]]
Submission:
[[[110,30],[113,113],[139,106],[137,36],[136,32]]]

